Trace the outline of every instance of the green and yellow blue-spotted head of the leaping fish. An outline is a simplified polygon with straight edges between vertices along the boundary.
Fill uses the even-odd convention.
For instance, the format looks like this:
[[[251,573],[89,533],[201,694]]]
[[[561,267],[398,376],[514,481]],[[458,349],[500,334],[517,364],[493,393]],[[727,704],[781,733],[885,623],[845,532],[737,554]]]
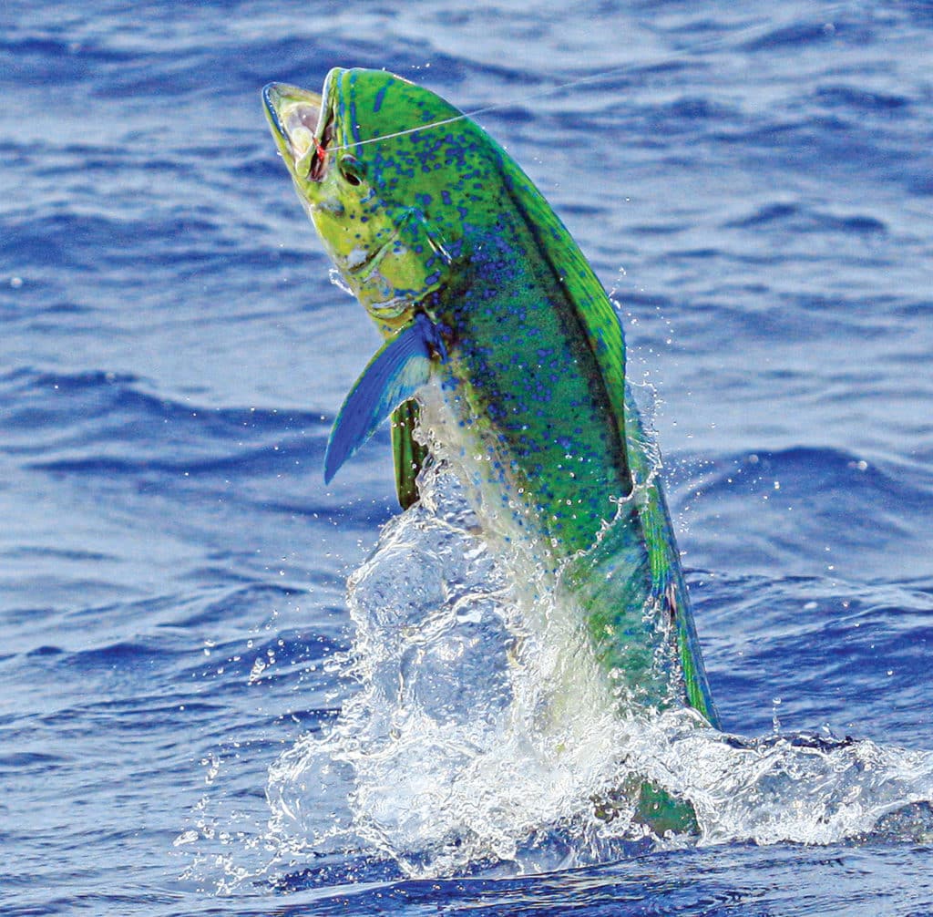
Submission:
[[[263,100],[327,254],[383,333],[397,332],[450,279],[463,233],[452,189],[480,128],[382,70],[335,68],[320,95],[272,83]]]

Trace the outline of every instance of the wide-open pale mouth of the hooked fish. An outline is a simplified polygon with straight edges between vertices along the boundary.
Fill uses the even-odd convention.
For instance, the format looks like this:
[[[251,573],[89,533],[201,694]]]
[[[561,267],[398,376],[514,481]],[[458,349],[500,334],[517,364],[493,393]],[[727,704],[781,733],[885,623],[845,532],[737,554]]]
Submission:
[[[269,83],[263,87],[262,101],[278,147],[286,161],[291,160],[295,176],[320,181],[334,132],[332,114],[322,97],[288,83]]]

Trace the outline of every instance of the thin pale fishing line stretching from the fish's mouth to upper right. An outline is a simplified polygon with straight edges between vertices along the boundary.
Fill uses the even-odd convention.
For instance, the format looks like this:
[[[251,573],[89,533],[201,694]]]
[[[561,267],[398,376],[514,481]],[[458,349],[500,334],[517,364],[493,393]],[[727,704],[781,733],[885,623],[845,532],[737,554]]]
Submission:
[[[833,25],[831,19],[835,17],[840,10],[845,6],[843,3],[835,4],[832,7],[829,7],[828,14],[829,19],[824,21],[822,28],[828,35],[832,34],[835,31],[835,26]],[[750,25],[745,29],[738,32],[732,37],[736,41],[746,43],[748,41],[754,40],[755,38],[762,37],[763,35],[768,35],[773,32],[781,31],[786,29],[788,26],[798,24],[797,20],[787,20],[775,24],[773,20],[768,22],[761,23],[760,25]],[[340,147],[328,147],[327,152],[337,152],[341,149],[351,149],[356,147],[367,147],[369,144],[373,143],[382,143],[383,140],[394,140],[397,137],[408,136],[409,134],[417,134],[419,131],[428,131],[432,128],[443,127],[445,124],[453,124],[456,121],[462,121],[467,119],[474,119],[480,115],[487,115],[490,112],[499,111],[502,108],[509,108],[517,105],[525,105],[530,102],[535,102],[537,99],[547,98],[550,95],[556,95],[558,92],[564,92],[568,89],[576,89],[579,86],[588,86],[592,83],[599,83],[606,79],[611,79],[615,77],[620,77],[623,74],[632,73],[637,69],[645,67],[659,67],[663,66],[666,63],[671,63],[673,61],[678,61],[681,58],[689,57],[695,54],[703,53],[704,51],[716,50],[725,46],[726,41],[729,36],[717,36],[715,38],[710,38],[708,41],[699,42],[697,44],[691,45],[689,48],[684,48],[678,51],[672,51],[669,54],[664,55],[661,58],[653,62],[643,62],[643,61],[633,61],[631,63],[623,64],[619,67],[612,67],[609,70],[602,70],[599,73],[591,74],[588,77],[579,77],[577,79],[569,79],[564,83],[560,83],[557,86],[549,86],[547,89],[538,90],[536,92],[529,92],[526,95],[513,96],[511,99],[507,99],[504,102],[496,102],[493,105],[482,106],[480,108],[473,108],[470,111],[461,112],[459,115],[453,115],[451,118],[444,118],[437,121],[429,121],[426,124],[419,124],[417,127],[409,127],[403,131],[395,131],[392,134],[380,134],[376,137],[369,137],[369,140],[359,140],[352,144],[344,144]]]

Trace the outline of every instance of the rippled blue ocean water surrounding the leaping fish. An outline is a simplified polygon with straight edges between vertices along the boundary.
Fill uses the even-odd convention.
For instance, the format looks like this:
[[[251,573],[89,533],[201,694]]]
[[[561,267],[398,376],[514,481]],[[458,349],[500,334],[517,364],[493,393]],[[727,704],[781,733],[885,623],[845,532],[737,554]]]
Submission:
[[[0,23],[0,913],[933,911],[933,7]],[[258,93],[333,65],[489,108],[614,291],[729,737],[503,732],[455,493],[396,519],[384,431],[324,486],[378,336]],[[468,614],[411,630],[444,577]],[[622,753],[699,844],[586,822]]]

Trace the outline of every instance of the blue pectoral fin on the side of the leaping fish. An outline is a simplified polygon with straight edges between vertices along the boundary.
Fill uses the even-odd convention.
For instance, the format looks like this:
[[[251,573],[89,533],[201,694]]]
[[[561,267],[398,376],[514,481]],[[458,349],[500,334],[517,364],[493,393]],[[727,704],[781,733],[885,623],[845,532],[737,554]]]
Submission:
[[[425,385],[431,374],[432,354],[437,352],[443,354],[437,333],[427,317],[419,314],[369,360],[330,430],[324,457],[325,483],[330,483],[343,462],[399,404]]]

